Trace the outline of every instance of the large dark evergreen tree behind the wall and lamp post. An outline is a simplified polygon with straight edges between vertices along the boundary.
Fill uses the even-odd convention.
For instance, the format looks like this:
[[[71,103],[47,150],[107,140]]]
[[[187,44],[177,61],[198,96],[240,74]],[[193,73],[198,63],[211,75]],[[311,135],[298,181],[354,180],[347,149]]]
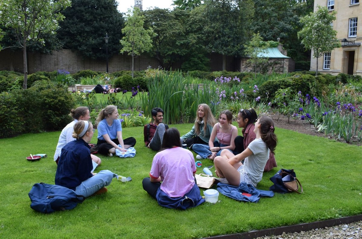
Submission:
[[[108,34],[108,56],[118,54],[124,18],[117,6],[115,0],[72,0],[72,7],[62,11],[66,19],[57,34],[63,48],[79,51],[83,57],[106,59],[104,37]]]

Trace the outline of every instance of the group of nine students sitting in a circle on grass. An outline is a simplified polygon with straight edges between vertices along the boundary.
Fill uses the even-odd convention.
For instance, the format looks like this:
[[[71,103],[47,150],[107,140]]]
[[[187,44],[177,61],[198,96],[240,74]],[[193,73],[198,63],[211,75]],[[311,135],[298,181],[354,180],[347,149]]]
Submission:
[[[186,144],[197,153],[196,158],[214,161],[219,182],[239,186],[245,182],[256,187],[263,171],[276,167],[274,150],[277,137],[274,122],[269,116],[257,117],[254,109],[241,109],[237,124],[243,128],[243,136],[237,136],[229,110],[220,112],[216,123],[207,104],[198,106],[195,124],[190,132],[180,137],[176,128],[163,123],[163,110],[153,108],[153,122],[144,126],[146,147],[158,151],[153,158],[150,177],[142,181],[143,189],[161,206],[186,209],[205,200],[197,187],[195,159]],[[90,154],[88,143],[94,129],[89,120],[87,107],[71,111],[74,118],[59,137],[54,160],[57,162],[55,184],[73,189],[77,194],[88,197],[107,191],[117,174],[109,170],[91,173],[92,161],[101,163],[99,157]],[[107,106],[97,118],[100,154],[112,156],[115,150],[125,151],[136,144],[133,137],[122,139],[122,125],[116,106]],[[69,137],[72,134],[73,140]]]

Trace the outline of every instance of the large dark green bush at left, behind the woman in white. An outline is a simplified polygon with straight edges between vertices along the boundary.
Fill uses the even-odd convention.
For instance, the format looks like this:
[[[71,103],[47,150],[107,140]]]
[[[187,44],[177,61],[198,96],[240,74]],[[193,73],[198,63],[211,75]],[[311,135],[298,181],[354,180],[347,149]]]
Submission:
[[[60,130],[69,123],[75,106],[67,88],[47,80],[35,81],[29,89],[0,94],[0,138]]]

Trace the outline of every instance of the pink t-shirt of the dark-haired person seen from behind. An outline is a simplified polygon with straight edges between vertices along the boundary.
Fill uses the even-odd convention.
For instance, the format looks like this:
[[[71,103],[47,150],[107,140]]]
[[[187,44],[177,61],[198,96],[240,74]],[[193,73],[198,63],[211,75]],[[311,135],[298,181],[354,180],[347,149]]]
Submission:
[[[195,184],[195,159],[191,151],[181,147],[165,149],[153,157],[150,176],[161,176],[161,190],[169,197],[181,197]]]

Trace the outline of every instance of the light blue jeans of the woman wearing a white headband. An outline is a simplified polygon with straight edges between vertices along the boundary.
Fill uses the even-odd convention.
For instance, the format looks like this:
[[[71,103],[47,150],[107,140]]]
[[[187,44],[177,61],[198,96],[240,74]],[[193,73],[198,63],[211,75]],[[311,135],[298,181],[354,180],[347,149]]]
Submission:
[[[117,174],[114,174],[109,170],[101,170],[96,175],[84,180],[80,185],[78,185],[75,188],[75,193],[77,195],[89,197],[99,189],[108,186],[115,177],[117,177]]]

